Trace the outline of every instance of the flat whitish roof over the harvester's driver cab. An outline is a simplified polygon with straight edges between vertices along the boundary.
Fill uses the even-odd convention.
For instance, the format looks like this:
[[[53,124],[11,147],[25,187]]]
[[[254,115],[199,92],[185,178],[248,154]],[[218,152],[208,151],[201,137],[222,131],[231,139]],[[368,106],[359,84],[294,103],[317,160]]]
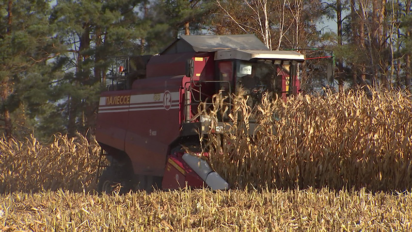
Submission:
[[[252,60],[252,59],[270,59],[270,60],[294,60],[303,62],[305,56],[297,51],[271,51],[271,50],[220,50],[215,53],[215,60]]]

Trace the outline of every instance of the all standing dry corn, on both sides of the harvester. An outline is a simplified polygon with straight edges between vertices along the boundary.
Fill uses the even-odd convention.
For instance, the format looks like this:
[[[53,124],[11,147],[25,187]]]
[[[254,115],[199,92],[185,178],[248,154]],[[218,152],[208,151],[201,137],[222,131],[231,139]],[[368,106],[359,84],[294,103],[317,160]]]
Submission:
[[[219,112],[228,109],[219,96],[213,102],[211,111],[199,113],[212,119],[212,128]],[[299,95],[287,102],[265,95],[254,112],[240,96],[231,102],[226,115],[236,123],[223,133],[210,133],[206,149],[213,168],[236,188],[412,187],[410,94]],[[247,133],[251,118],[256,121],[253,136]],[[0,139],[0,193],[91,191],[99,150],[81,134],[57,134],[47,146],[34,137]]]

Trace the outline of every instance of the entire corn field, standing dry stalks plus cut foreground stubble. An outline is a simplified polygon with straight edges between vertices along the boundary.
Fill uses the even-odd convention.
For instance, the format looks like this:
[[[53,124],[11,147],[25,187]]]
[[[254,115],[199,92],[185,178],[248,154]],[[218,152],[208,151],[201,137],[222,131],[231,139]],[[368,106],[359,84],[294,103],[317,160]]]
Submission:
[[[232,102],[238,123],[209,135],[209,160],[235,189],[253,190],[99,196],[95,141],[0,139],[0,230],[412,230],[410,94],[266,97],[252,137],[246,101]]]

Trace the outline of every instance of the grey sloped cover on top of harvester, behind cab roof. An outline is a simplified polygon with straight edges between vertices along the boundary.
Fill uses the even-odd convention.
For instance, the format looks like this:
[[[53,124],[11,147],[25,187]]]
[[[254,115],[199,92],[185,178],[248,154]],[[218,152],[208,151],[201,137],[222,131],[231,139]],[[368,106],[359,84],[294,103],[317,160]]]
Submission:
[[[219,50],[269,50],[254,34],[181,35],[160,54]]]

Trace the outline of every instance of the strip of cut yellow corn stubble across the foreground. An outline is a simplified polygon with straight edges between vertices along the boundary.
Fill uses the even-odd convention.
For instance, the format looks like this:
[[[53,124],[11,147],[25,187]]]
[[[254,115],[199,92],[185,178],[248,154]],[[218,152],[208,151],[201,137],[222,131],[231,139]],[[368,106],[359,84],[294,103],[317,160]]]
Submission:
[[[412,194],[328,189],[1,195],[4,232],[411,231]]]

